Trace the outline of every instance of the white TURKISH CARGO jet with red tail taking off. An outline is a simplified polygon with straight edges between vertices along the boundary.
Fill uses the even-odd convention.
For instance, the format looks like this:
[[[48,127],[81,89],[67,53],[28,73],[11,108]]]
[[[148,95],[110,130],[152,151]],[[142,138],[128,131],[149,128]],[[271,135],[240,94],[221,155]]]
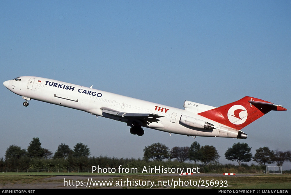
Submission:
[[[184,101],[184,110],[159,103],[134,99],[91,87],[65,83],[35,76],[21,76],[3,82],[13,93],[25,99],[38,100],[82,110],[92,115],[122,121],[130,133],[144,134],[142,127],[164,132],[203,137],[232,137],[246,139],[241,129],[271,110],[284,111],[282,105],[245,96],[218,108]],[[194,137],[194,138],[195,138]]]

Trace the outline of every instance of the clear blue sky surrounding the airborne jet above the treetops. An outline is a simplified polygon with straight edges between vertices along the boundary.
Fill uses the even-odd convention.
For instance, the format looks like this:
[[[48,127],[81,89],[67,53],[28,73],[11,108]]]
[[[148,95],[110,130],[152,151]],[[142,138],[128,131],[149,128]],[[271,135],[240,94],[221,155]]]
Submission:
[[[284,105],[245,127],[244,140],[169,136],[61,106],[23,100],[0,87],[0,157],[33,137],[53,153],[82,142],[91,155],[142,158],[160,142],[213,145],[221,163],[245,142],[291,150],[290,1],[1,1],[0,78],[40,76],[183,108],[219,107],[253,96]],[[290,169],[290,162],[284,167]]]

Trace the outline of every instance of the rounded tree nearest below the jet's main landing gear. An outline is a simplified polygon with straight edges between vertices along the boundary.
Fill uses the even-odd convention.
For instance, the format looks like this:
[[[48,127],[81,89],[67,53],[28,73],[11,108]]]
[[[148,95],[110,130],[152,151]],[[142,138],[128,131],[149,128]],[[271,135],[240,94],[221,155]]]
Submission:
[[[150,146],[145,146],[143,152],[144,160],[153,159],[156,161],[162,161],[170,157],[168,147],[164,144],[161,144],[160,142],[152,144]]]

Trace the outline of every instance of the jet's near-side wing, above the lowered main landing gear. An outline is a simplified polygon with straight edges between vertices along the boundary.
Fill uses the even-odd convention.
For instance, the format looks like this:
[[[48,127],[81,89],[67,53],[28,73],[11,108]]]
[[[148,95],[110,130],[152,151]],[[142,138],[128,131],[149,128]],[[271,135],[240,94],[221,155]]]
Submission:
[[[102,112],[107,113],[109,115],[127,118],[129,120],[139,120],[148,123],[153,123],[159,121],[158,118],[163,117],[151,113],[129,113],[129,112],[120,112],[117,110],[113,110],[111,108],[101,108]]]

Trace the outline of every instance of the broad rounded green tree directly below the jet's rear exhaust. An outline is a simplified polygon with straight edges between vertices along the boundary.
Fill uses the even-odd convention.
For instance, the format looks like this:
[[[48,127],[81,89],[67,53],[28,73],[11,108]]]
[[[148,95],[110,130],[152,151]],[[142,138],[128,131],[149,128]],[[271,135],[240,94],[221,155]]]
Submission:
[[[228,148],[224,156],[227,160],[238,162],[239,166],[241,162],[250,162],[253,157],[249,145],[239,142]]]

